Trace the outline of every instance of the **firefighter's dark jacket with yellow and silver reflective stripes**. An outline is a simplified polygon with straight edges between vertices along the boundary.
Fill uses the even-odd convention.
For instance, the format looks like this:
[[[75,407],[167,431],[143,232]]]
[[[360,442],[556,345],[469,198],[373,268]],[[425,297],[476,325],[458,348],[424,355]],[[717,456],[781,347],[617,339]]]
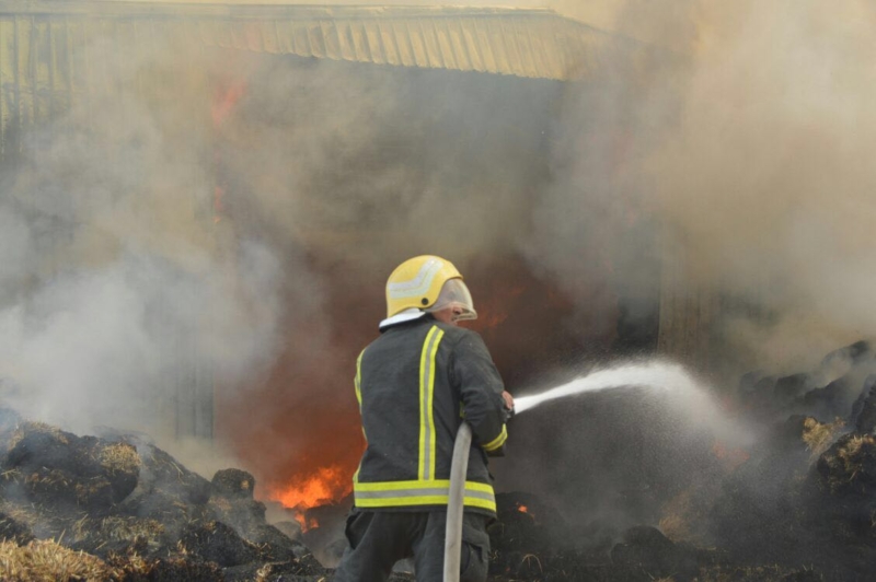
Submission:
[[[476,333],[430,315],[387,328],[356,363],[367,441],[353,478],[356,507],[446,507],[453,442],[464,417],[473,433],[465,508],[495,515],[486,455],[502,454],[507,439],[503,389]]]

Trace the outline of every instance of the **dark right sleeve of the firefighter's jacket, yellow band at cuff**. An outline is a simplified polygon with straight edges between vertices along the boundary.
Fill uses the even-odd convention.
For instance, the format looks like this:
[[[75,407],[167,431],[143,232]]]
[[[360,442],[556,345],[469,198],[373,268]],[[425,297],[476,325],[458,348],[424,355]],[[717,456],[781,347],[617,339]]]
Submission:
[[[502,398],[505,386],[480,335],[468,331],[460,338],[453,350],[452,371],[474,441],[488,455],[502,455],[508,438]]]

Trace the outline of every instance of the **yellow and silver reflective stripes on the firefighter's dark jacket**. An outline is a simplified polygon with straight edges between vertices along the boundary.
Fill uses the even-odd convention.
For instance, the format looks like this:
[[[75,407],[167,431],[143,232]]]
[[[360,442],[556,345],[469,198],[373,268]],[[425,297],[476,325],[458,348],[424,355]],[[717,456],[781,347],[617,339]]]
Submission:
[[[419,357],[419,461],[417,480],[359,482],[359,472],[353,476],[357,508],[399,508],[414,505],[447,505],[450,480],[435,478],[436,438],[433,403],[435,397],[435,360],[445,333],[433,326],[426,334]],[[361,408],[361,354],[356,365],[356,396]],[[503,428],[489,445],[502,446],[507,438]],[[496,444],[498,443],[498,444]],[[465,481],[463,504],[496,511],[496,498],[488,484]]]

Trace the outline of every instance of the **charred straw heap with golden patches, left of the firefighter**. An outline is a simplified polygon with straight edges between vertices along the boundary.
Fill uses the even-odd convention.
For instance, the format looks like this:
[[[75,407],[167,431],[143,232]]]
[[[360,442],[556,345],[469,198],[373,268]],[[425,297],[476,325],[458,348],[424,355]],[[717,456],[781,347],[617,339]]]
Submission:
[[[187,470],[142,436],[77,436],[0,410],[0,579],[320,580],[253,477]]]

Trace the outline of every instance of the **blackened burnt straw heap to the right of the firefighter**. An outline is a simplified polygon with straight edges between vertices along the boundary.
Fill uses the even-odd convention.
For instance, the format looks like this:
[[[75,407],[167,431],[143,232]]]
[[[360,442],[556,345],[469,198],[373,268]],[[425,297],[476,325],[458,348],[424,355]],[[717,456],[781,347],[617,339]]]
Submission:
[[[497,498],[491,574],[527,581],[865,581],[876,564],[876,350],[860,341],[810,372],[740,382],[761,427],[682,474],[653,523],[616,532],[525,493]],[[703,455],[702,458],[707,458]],[[565,517],[565,519],[564,519]]]

